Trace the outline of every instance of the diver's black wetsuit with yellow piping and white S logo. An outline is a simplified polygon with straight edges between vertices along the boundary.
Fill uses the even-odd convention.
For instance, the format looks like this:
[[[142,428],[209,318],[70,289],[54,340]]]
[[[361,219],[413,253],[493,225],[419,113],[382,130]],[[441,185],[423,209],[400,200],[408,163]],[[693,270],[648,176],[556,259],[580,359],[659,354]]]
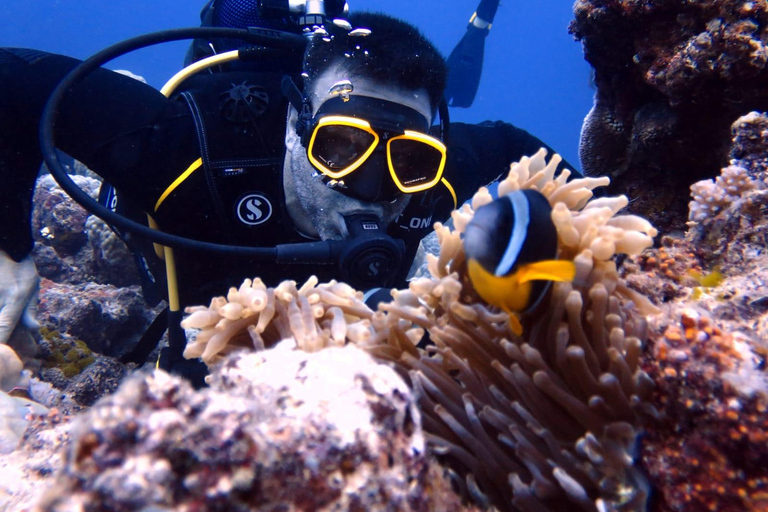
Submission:
[[[0,49],[0,248],[16,260],[32,248],[40,114],[52,88],[77,62]],[[98,70],[62,105],[57,147],[114,185],[120,200],[151,212],[164,231],[244,246],[304,242],[283,195],[288,103],[279,79],[279,74],[252,71],[204,73],[167,99],[132,78]],[[268,98],[263,114],[244,123],[221,113],[228,91],[242,84],[262,88]],[[404,283],[419,240],[434,222],[445,221],[456,203],[496,180],[511,161],[546,147],[501,122],[453,123],[446,142],[444,177],[453,191],[439,184],[416,194],[388,227],[407,251],[394,285]],[[173,188],[198,159],[202,164]],[[176,251],[176,261],[182,305],[207,302],[245,277],[259,276],[270,285],[283,279],[302,282],[312,274],[321,281],[339,277],[334,265],[280,265],[185,250]]]

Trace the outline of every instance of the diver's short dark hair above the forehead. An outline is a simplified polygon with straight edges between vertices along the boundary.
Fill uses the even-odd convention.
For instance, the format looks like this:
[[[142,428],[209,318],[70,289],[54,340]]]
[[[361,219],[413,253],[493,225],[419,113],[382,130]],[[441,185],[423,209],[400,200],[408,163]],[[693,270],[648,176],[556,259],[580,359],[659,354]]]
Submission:
[[[348,18],[353,29],[366,28],[367,36],[332,23],[329,37],[315,35],[304,54],[306,90],[330,66],[340,66],[347,78],[363,77],[383,85],[416,90],[424,88],[434,115],[443,99],[448,68],[445,58],[413,25],[386,14],[357,12]]]

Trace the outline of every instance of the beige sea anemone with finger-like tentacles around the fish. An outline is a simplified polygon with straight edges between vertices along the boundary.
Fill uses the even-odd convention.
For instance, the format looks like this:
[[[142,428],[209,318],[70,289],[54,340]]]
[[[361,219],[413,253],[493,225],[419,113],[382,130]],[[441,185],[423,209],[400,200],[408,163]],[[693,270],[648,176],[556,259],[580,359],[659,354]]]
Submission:
[[[639,367],[645,315],[656,309],[618,277],[613,256],[637,255],[656,230],[617,215],[626,197],[592,199],[608,178],[554,176],[560,157],[541,150],[511,166],[499,194],[535,189],[552,205],[558,257],[573,260],[575,280],[554,283],[548,298],[522,318],[480,301],[467,277],[461,234],[474,211],[492,201],[481,189],[454,212],[455,228],[436,225],[439,256],[431,277],[393,301],[368,309],[360,292],[339,284],[267,288],[246,281],[209,307],[190,308],[198,328],[187,357],[209,364],[240,348],[283,338],[300,348],[356,343],[389,362],[418,391],[433,450],[476,502],[500,510],[643,510],[647,487],[633,450],[653,389]],[[430,344],[420,348],[425,333]]]

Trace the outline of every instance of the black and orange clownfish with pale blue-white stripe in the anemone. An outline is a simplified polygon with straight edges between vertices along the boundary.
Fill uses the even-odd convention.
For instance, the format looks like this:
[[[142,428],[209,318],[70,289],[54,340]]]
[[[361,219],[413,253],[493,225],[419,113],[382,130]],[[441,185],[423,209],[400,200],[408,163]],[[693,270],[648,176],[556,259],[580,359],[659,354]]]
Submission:
[[[572,281],[572,261],[557,260],[557,229],[549,201],[536,190],[518,190],[481,206],[464,232],[469,279],[488,304],[509,314],[522,334],[519,315],[531,311],[552,281]]]

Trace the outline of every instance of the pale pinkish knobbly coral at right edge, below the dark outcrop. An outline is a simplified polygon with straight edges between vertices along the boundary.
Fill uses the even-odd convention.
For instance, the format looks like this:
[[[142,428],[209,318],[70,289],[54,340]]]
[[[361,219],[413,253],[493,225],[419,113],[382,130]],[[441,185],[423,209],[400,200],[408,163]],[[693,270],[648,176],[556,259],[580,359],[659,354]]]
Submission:
[[[732,127],[731,164],[714,184],[691,187],[691,222],[687,241],[701,266],[723,276],[714,288],[719,291],[694,297],[709,302],[706,307],[728,331],[741,330],[768,350],[768,117],[756,112],[739,118]],[[733,179],[734,169],[738,178]],[[720,209],[700,208],[701,190],[719,189],[718,184],[738,183],[738,194]],[[707,188],[709,187],[709,188]],[[717,193],[715,191],[717,195]],[[705,194],[705,197],[710,197]],[[708,296],[708,297],[707,297]],[[712,297],[714,296],[714,297]],[[709,301],[706,299],[709,298]],[[713,301],[712,298],[715,300]],[[720,299],[720,300],[717,300]]]

